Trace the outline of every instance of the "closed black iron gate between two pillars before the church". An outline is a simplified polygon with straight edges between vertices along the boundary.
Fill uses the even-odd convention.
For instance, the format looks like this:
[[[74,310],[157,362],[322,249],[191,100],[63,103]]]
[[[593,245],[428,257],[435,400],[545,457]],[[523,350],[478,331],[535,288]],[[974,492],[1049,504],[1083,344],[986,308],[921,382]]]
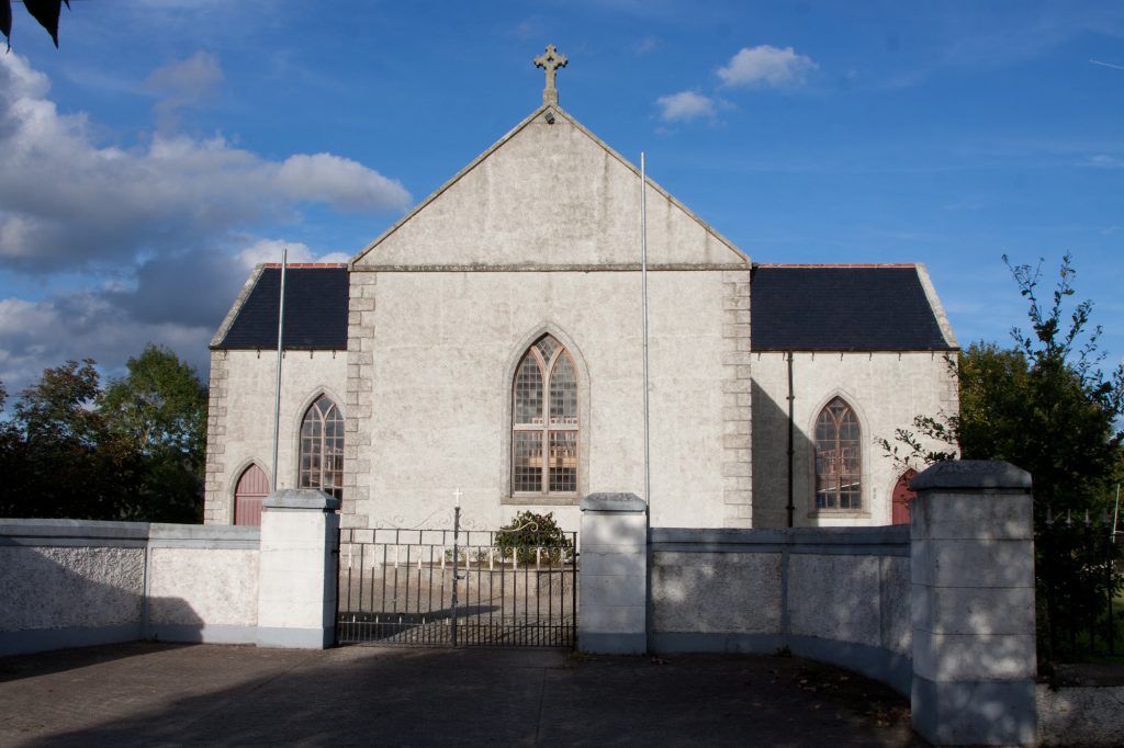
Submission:
[[[518,551],[496,536],[342,529],[336,642],[573,647],[577,533]]]

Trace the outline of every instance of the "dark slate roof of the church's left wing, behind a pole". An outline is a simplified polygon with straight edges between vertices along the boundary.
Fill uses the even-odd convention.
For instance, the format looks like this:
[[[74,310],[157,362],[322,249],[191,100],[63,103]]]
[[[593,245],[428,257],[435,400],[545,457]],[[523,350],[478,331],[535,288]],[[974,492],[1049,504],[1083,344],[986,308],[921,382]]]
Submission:
[[[284,279],[284,347],[347,349],[347,266],[289,265]],[[281,268],[262,267],[223,339],[220,350],[277,350]]]

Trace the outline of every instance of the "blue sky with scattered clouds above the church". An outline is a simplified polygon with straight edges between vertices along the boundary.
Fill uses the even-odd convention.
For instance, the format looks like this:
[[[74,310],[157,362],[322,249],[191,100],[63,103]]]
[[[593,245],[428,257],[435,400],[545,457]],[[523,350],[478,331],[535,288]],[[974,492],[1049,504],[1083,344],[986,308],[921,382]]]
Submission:
[[[1124,4],[72,0],[0,55],[0,381],[207,374],[254,262],[343,261],[541,101],[764,263],[923,262],[962,345],[1063,253],[1124,356]]]

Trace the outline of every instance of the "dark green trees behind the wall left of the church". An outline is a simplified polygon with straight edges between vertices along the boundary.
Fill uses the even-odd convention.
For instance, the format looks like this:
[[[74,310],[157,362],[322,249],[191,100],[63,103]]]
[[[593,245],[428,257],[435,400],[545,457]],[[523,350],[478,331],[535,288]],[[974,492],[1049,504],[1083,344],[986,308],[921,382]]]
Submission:
[[[0,516],[198,521],[206,387],[155,346],[128,371],[103,392],[93,361],[71,361],[20,394],[0,429]]]

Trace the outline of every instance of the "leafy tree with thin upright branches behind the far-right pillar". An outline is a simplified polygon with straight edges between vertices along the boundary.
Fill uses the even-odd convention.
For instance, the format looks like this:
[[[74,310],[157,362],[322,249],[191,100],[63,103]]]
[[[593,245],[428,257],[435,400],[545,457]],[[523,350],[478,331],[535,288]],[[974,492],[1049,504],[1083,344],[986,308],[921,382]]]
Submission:
[[[882,447],[897,462],[923,468],[959,455],[1004,459],[1031,473],[1035,516],[1099,510],[1122,477],[1117,423],[1124,416],[1124,365],[1104,373],[1093,303],[1071,304],[1076,270],[1067,255],[1049,301],[1040,297],[1041,263],[1012,265],[1028,302],[1030,330],[1012,329],[1014,345],[973,343],[951,361],[960,412],[918,416]]]

